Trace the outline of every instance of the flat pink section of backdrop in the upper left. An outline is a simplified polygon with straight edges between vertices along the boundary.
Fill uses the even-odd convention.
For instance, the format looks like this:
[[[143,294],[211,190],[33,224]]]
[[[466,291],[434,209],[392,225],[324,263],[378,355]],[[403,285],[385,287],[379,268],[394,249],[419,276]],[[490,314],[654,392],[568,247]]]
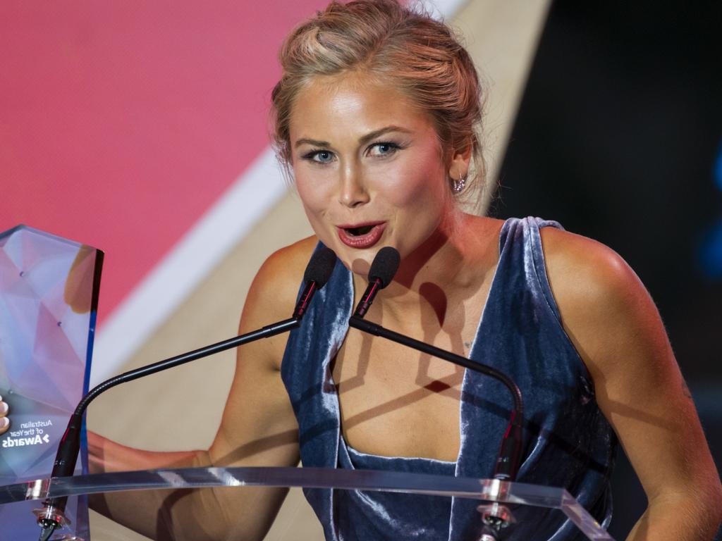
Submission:
[[[325,4],[0,4],[0,231],[104,250],[102,325],[266,148],[279,43]]]

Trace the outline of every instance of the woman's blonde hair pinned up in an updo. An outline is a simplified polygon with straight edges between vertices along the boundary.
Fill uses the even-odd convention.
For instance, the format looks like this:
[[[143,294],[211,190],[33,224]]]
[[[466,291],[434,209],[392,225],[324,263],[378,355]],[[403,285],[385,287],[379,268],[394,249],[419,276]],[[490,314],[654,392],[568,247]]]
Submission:
[[[396,0],[334,0],[287,36],[279,60],[283,74],[271,94],[272,139],[287,170],[298,92],[314,77],[359,71],[391,82],[427,112],[445,153],[471,145],[476,176],[483,177],[477,71],[451,29],[421,9]]]

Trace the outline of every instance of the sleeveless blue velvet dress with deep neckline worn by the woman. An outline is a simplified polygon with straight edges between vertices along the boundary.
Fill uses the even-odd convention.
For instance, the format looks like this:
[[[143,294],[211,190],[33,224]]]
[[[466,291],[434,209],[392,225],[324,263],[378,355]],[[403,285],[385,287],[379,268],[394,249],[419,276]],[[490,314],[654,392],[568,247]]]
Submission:
[[[544,226],[560,227],[538,218],[503,224],[499,263],[469,357],[504,371],[521,389],[526,420],[518,482],[564,487],[606,526],[617,440],[596,404],[586,366],[562,329],[541,250]],[[495,379],[471,370],[461,387],[456,462],[380,457],[346,444],[329,364],[352,310],[352,276],[337,261],[287,342],[281,374],[298,421],[303,465],[490,478],[511,398]],[[305,496],[326,540],[470,541],[481,535],[479,501],[468,498],[327,489],[310,489]],[[517,524],[502,539],[586,539],[559,510],[513,512]]]

